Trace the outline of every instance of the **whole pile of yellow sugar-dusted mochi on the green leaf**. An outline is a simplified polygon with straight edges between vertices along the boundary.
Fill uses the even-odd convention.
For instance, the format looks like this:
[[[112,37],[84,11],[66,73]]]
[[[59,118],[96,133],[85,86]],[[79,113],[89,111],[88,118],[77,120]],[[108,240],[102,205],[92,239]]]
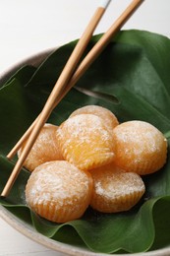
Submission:
[[[145,192],[142,175],[159,170],[166,158],[167,141],[153,125],[119,124],[110,110],[86,105],[60,126],[42,128],[25,162],[31,171],[26,200],[56,223],[81,218],[88,206],[102,213],[128,211]]]

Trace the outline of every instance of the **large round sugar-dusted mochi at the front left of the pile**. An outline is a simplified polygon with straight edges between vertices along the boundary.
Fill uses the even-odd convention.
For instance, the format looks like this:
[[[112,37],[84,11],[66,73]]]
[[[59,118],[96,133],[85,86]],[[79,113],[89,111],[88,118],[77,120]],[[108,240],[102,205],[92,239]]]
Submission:
[[[26,187],[30,208],[41,217],[63,223],[80,218],[90,201],[92,179],[73,164],[56,160],[31,173]]]

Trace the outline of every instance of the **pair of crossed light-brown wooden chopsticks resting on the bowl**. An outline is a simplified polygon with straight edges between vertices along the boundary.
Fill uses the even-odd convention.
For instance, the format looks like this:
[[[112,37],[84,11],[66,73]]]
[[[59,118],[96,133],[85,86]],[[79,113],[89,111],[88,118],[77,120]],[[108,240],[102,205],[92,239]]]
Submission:
[[[102,1],[102,9],[106,9],[109,1]],[[85,59],[82,61],[78,69],[75,71],[76,66],[78,65],[78,61],[80,60],[84,50],[85,46],[87,44],[87,41],[91,37],[91,33],[88,37],[88,40],[83,40],[82,38],[78,42],[80,44],[80,48],[78,48],[78,52],[76,54],[73,51],[70,59],[68,60],[63,72],[61,73],[57,83],[54,86],[53,91],[51,92],[51,95],[48,97],[41,113],[39,116],[35,119],[33,124],[28,129],[28,142],[21,154],[20,159],[17,161],[2,193],[2,197],[6,197],[16,178],[18,177],[20,170],[25,162],[25,160],[28,157],[28,153],[31,150],[31,147],[33,146],[34,141],[36,140],[40,129],[45,124],[46,120],[50,116],[50,113],[54,109],[54,107],[60,102],[60,100],[70,91],[70,89],[78,82],[78,80],[82,77],[82,75],[85,73],[86,69],[90,66],[90,64],[97,58],[97,56],[103,51],[103,49],[106,47],[106,45],[109,43],[113,35],[120,31],[120,29],[123,27],[123,25],[127,22],[127,20],[134,14],[134,12],[137,10],[137,8],[142,4],[143,0],[134,0],[132,3],[127,7],[127,9],[123,12],[123,14],[117,19],[117,21],[111,26],[111,28],[105,32],[101,38],[98,40],[98,42],[93,46],[93,48],[87,53],[85,56]],[[94,14],[95,16],[95,14]],[[102,15],[101,15],[102,16]],[[95,19],[94,19],[95,20]],[[90,24],[90,23],[89,23]],[[88,28],[88,26],[87,26]],[[88,29],[85,30],[85,33],[88,32]],[[84,35],[85,35],[84,33]],[[83,38],[84,38],[83,35]],[[78,45],[77,44],[77,45]],[[77,46],[76,46],[77,47]],[[75,48],[76,49],[76,48]],[[78,53],[81,52],[80,58],[78,58]],[[79,59],[79,60],[78,60]],[[75,74],[73,72],[75,71]],[[25,138],[25,140],[26,140]],[[21,144],[18,144],[18,147],[21,147]],[[16,149],[15,149],[16,150]],[[14,152],[13,152],[14,154]],[[12,154],[12,155],[13,155]],[[10,157],[8,155],[8,157]]]

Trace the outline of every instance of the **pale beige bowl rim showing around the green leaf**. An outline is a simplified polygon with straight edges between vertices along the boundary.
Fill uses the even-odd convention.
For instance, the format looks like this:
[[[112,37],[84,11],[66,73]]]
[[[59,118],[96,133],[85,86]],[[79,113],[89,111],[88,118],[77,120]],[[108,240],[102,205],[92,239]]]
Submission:
[[[12,65],[9,69],[7,69],[5,72],[0,74],[0,88],[1,86],[8,81],[8,79],[16,73],[16,71],[21,68],[24,65],[33,65],[37,66],[40,65],[47,56],[49,56],[54,50],[56,50],[58,47],[49,48],[43,51],[40,51],[36,54],[30,55],[28,58],[24,58],[20,62]],[[73,255],[73,256],[106,256],[109,255],[107,253],[95,253],[92,251],[89,251],[89,249],[78,247],[66,243],[62,243],[56,240],[53,240],[39,232],[37,232],[31,225],[25,223],[15,215],[13,215],[8,209],[0,205],[0,218],[2,218],[7,224],[10,224],[12,227],[14,227],[16,230],[18,230],[20,233],[27,236],[30,240],[33,240],[51,250],[65,253],[66,255]],[[113,254],[114,256],[120,256],[121,254]],[[124,256],[169,256],[170,255],[170,246],[154,250],[154,251],[148,251],[148,252],[141,252],[141,253],[126,253],[122,254]]]

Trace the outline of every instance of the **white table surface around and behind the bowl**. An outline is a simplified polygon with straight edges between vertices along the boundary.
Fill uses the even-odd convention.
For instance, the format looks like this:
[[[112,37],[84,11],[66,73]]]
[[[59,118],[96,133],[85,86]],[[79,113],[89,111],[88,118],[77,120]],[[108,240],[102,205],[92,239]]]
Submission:
[[[81,36],[100,1],[0,0],[0,74],[42,50]],[[95,33],[105,32],[130,0],[112,0]],[[170,37],[170,0],[145,0],[124,29]],[[61,256],[0,219],[0,255]]]

